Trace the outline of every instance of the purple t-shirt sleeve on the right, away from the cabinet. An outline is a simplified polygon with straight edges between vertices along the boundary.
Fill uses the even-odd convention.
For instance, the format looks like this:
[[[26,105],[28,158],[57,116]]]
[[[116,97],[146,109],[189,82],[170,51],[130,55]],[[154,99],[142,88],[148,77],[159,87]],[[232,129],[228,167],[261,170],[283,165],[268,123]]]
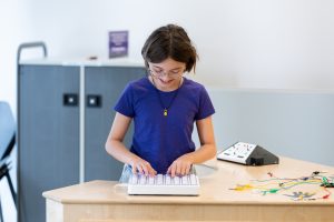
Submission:
[[[203,87],[200,89],[199,107],[198,107],[198,112],[195,115],[195,120],[205,119],[207,117],[210,117],[214,113],[215,113],[215,108],[213,105],[213,102],[212,102],[206,89]]]

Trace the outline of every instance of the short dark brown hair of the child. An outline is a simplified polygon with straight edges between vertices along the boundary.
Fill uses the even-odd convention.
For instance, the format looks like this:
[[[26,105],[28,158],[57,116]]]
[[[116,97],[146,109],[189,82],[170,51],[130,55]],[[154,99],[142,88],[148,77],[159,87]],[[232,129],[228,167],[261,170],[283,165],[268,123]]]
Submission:
[[[167,58],[186,63],[186,71],[189,72],[196,67],[198,59],[195,47],[187,32],[179,26],[167,24],[156,29],[146,40],[141,56],[145,65],[148,62],[159,63]]]

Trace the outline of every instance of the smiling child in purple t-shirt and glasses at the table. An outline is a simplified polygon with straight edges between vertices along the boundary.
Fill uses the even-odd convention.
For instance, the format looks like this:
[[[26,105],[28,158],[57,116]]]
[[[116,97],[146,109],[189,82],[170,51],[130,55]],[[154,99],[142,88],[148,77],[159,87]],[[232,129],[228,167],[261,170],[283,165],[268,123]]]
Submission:
[[[175,24],[158,28],[141,54],[149,74],[124,90],[106,142],[107,152],[126,163],[121,182],[131,172],[185,175],[194,163],[216,155],[212,101],[202,84],[184,78],[197,60],[186,31]],[[135,131],[128,150],[122,140],[131,120]],[[191,140],[194,122],[200,141],[197,150]]]

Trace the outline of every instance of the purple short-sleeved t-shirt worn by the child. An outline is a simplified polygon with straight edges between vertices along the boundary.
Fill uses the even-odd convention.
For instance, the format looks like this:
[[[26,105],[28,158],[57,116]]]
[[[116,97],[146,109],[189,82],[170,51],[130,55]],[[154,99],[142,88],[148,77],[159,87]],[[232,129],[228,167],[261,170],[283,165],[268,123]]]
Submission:
[[[169,104],[165,117],[164,108]],[[148,78],[132,81],[125,88],[115,110],[134,119],[130,151],[148,161],[158,173],[166,173],[173,161],[195,151],[194,122],[215,113],[205,88],[186,78],[179,89],[171,92],[157,90]]]

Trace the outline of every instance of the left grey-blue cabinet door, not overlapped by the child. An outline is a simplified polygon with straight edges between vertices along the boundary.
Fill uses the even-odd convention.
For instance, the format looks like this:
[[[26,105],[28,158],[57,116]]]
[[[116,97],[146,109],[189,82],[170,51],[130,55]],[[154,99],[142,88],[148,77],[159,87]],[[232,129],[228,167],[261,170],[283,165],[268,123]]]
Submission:
[[[18,78],[19,221],[45,222],[42,192],[79,182],[79,68],[21,65]]]

